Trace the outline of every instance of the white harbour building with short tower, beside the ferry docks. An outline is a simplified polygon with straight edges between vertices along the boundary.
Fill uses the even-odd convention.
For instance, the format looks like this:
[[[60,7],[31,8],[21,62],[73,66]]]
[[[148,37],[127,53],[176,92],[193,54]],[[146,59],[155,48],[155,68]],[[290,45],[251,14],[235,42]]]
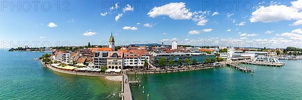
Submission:
[[[228,48],[228,52],[221,52],[220,57],[228,60],[245,60],[255,58],[255,53],[243,53],[236,51],[234,48]]]

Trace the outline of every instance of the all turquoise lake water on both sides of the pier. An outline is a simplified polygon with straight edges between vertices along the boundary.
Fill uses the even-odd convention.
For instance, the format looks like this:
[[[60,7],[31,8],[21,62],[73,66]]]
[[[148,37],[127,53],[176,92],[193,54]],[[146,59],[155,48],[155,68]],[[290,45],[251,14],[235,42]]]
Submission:
[[[121,82],[43,68],[33,60],[42,54],[0,51],[0,99],[120,99]],[[281,61],[285,66],[244,64],[255,68],[254,75],[230,67],[138,74],[142,85],[132,85],[132,95],[136,100],[147,99],[147,93],[150,99],[302,99],[302,60]]]

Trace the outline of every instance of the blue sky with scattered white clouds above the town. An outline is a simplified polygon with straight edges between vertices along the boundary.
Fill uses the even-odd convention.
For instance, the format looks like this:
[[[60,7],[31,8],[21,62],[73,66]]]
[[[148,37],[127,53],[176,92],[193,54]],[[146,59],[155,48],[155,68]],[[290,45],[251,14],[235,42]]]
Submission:
[[[68,0],[60,1],[59,11],[58,0],[49,1],[49,11],[41,7],[48,0],[40,1],[37,11],[32,1],[29,11],[24,10],[26,1],[13,3],[18,1],[20,11],[11,8],[10,0],[8,7],[1,4],[0,11],[0,40],[15,45],[17,41],[21,41],[19,45],[40,41],[38,46],[44,41],[52,46],[57,41],[58,45],[63,41],[70,45],[105,44],[111,31],[116,44],[177,40],[179,44],[221,45],[219,42],[228,41],[238,46],[248,42],[254,47],[282,48],[302,43],[302,0],[142,0],[138,4],[137,0]],[[238,10],[237,1],[241,1]],[[110,4],[106,6],[106,2]],[[62,11],[66,4],[69,6]],[[264,45],[266,42],[269,45]]]

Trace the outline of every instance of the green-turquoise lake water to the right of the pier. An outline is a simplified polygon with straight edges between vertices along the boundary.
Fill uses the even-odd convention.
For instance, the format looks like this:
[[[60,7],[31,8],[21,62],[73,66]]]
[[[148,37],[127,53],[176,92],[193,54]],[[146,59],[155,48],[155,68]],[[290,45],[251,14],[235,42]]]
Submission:
[[[254,75],[231,67],[138,74],[141,87],[131,90],[134,99],[147,99],[147,93],[150,99],[302,99],[302,60],[280,61],[285,66],[243,64],[255,68]]]

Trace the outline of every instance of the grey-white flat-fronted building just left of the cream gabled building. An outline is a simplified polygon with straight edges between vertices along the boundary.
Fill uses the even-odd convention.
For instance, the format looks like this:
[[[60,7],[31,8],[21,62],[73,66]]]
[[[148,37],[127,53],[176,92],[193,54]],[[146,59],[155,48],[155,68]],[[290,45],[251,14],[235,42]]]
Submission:
[[[101,68],[107,66],[107,57],[109,51],[97,51],[94,56],[94,67]]]

